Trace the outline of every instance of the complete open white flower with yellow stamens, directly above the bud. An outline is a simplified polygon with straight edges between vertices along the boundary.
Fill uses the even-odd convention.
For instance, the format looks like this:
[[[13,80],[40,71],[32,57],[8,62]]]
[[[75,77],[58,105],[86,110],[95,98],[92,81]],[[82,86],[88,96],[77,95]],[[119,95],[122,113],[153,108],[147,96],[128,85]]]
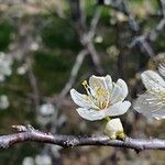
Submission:
[[[87,95],[81,95],[72,89],[70,96],[74,102],[80,107],[76,110],[84,119],[94,121],[108,116],[121,116],[131,106],[130,101],[124,101],[128,96],[128,86],[122,79],[112,82],[109,75],[106,77],[91,76],[89,85],[87,80],[82,85]]]

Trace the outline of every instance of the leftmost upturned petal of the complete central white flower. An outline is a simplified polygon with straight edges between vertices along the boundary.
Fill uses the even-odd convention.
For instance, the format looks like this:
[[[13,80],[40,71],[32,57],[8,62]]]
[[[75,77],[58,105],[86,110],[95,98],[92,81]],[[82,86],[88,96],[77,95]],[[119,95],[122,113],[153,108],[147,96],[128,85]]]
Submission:
[[[87,99],[87,95],[81,95],[75,89],[70,90],[70,96],[76,105],[79,107],[91,108],[91,101]]]

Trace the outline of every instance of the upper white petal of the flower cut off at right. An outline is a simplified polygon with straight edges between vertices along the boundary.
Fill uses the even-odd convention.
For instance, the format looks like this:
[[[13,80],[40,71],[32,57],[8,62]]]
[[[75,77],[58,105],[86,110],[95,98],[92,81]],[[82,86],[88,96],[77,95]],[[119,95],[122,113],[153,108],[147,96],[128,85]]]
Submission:
[[[142,81],[147,90],[153,88],[165,88],[165,80],[155,72],[146,70],[141,74]]]

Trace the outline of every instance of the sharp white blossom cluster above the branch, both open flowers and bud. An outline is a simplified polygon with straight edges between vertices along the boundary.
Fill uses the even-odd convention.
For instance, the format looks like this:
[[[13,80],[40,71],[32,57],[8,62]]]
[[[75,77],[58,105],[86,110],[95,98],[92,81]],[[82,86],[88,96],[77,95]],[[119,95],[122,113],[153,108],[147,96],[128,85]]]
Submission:
[[[142,81],[147,89],[135,100],[133,108],[147,118],[165,119],[165,63],[158,66],[158,73],[146,70],[141,74]],[[124,139],[125,134],[120,118],[131,107],[125,100],[128,85],[124,80],[112,81],[110,75],[106,77],[91,76],[89,82],[82,81],[86,95],[75,89],[70,96],[77,108],[78,114],[89,121],[107,119],[105,133],[110,139]]]

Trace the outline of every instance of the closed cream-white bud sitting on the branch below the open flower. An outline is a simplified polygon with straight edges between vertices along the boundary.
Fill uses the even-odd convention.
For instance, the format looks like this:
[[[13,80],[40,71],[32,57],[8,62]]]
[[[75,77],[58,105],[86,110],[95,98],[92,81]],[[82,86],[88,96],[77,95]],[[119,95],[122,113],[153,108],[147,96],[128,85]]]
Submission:
[[[117,138],[124,139],[125,136],[123,133],[122,123],[119,118],[112,119],[107,123],[105,133],[113,140],[116,140]]]

